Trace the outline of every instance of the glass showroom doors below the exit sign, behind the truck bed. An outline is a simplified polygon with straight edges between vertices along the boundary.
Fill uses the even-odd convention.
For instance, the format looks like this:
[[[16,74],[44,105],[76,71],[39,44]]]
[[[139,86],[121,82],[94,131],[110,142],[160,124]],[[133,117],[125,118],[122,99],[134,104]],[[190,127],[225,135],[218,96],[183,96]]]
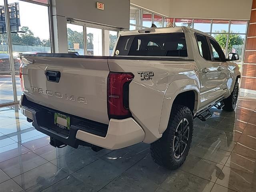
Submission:
[[[110,56],[113,52],[118,28],[68,20],[68,52],[79,55]]]

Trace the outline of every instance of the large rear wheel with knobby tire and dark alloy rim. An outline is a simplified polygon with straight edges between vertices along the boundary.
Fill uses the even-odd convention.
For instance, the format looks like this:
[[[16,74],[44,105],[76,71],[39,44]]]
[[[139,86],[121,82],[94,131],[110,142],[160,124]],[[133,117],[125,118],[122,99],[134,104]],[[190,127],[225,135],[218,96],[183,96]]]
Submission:
[[[188,155],[193,135],[193,115],[186,106],[174,104],[167,129],[150,145],[151,156],[158,165],[174,170]]]

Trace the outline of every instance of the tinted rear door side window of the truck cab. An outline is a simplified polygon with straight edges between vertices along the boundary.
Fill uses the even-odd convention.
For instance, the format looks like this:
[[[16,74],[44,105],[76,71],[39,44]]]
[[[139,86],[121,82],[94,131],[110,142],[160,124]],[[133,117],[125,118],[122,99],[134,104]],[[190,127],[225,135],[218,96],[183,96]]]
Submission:
[[[197,40],[198,50],[200,52],[200,55],[205,60],[212,60],[211,56],[210,56],[210,49],[209,49],[209,46],[208,46],[206,36],[196,34],[196,40]]]

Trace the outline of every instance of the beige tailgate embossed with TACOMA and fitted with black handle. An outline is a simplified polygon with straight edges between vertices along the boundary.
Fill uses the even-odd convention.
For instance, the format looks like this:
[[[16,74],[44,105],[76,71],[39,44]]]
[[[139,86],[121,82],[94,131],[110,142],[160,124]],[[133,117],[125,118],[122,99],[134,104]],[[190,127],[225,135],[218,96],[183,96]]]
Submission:
[[[109,123],[108,59],[24,56],[22,62],[24,92],[28,100]]]

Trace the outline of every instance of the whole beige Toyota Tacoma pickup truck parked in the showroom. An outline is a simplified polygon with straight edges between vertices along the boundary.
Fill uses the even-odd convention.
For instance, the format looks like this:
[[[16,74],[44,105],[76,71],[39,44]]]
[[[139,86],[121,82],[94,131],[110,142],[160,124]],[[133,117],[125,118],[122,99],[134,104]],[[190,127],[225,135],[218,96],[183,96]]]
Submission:
[[[151,144],[154,161],[185,161],[193,119],[234,110],[240,72],[208,34],[186,28],[120,32],[112,56],[23,54],[23,114],[55,147]]]

